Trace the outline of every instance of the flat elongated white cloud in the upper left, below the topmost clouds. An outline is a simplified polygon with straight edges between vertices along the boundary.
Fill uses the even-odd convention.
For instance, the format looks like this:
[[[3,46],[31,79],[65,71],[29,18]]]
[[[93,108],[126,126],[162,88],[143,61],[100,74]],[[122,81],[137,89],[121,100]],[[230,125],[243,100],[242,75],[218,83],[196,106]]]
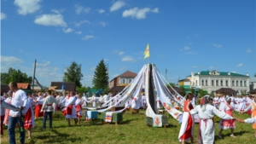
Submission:
[[[37,16],[34,22],[43,26],[67,26],[62,14],[43,14]]]

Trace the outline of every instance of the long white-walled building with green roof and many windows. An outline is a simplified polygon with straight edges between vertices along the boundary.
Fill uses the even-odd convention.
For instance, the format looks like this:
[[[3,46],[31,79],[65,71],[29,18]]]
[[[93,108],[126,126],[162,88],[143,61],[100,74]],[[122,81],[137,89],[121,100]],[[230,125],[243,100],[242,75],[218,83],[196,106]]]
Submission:
[[[201,71],[191,72],[186,79],[190,80],[190,88],[204,89],[209,94],[220,88],[230,88],[239,94],[245,94],[250,90],[249,75],[236,72]]]

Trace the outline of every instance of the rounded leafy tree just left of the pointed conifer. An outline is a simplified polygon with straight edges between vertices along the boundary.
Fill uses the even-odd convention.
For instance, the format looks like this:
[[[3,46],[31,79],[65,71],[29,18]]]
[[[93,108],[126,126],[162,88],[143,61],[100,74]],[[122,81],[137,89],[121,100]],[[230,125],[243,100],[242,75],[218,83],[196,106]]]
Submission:
[[[75,61],[71,63],[69,67],[67,67],[67,72],[64,72],[63,81],[64,82],[74,82],[76,87],[81,87],[81,80],[84,77],[81,72],[81,66],[78,65]]]

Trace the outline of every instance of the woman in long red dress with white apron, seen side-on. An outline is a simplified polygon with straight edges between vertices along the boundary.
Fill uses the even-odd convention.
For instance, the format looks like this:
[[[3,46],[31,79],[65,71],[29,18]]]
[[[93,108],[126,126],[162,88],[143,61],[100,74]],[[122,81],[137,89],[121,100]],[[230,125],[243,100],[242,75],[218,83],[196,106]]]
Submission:
[[[178,140],[185,144],[185,141],[194,142],[194,117],[189,113],[194,107],[191,104],[193,95],[189,93],[183,107],[183,122],[179,130]]]

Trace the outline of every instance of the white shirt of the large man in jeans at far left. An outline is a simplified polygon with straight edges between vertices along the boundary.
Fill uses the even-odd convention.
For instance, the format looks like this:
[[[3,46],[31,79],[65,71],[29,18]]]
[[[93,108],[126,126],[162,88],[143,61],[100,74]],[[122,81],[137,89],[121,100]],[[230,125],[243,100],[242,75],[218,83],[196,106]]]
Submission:
[[[24,107],[24,109],[21,112],[23,115],[25,115],[27,111],[26,109],[27,101],[28,100],[27,100],[26,93],[23,90],[18,89],[16,92],[13,93],[11,104],[14,105],[15,107]],[[14,112],[13,110],[10,110],[9,116],[20,117],[20,112]]]

